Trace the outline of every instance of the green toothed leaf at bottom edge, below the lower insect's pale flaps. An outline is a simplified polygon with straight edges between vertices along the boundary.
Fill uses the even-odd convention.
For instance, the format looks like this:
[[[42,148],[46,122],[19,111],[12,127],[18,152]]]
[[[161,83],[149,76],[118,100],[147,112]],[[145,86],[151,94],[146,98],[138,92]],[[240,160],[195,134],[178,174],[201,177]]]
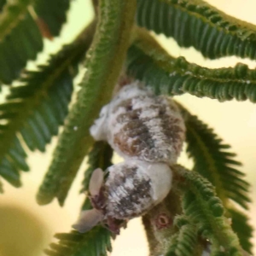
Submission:
[[[49,256],[107,256],[107,251],[111,251],[110,232],[102,227],[84,234],[72,231],[55,237],[60,241],[50,244],[50,249],[45,250]]]

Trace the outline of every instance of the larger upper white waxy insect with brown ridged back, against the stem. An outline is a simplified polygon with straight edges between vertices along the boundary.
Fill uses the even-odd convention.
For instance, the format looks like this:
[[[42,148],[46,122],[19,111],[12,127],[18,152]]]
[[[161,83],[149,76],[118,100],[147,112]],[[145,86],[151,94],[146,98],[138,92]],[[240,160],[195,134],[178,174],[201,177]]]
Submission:
[[[108,141],[125,159],[173,164],[182,150],[185,126],[171,99],[154,96],[134,82],[102,108],[90,134]]]

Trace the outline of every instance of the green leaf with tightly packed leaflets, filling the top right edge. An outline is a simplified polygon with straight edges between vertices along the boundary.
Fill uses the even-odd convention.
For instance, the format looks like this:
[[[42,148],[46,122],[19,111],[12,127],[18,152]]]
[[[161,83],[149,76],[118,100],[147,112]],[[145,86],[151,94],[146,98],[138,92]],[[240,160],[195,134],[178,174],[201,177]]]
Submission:
[[[137,0],[137,24],[173,37],[211,59],[256,58],[256,26],[224,14],[201,0]]]

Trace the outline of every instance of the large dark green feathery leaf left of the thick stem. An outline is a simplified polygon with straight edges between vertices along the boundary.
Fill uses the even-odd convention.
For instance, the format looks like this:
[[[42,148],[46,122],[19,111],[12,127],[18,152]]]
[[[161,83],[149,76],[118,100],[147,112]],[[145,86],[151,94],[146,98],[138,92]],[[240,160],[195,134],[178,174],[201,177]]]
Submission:
[[[84,33],[88,30],[91,26]],[[75,69],[90,46],[90,38],[81,34],[52,56],[46,66],[24,73],[22,85],[12,87],[8,101],[0,105],[0,175],[15,187],[20,186],[20,170],[29,169],[20,135],[32,151],[44,152],[58,133],[67,115]]]

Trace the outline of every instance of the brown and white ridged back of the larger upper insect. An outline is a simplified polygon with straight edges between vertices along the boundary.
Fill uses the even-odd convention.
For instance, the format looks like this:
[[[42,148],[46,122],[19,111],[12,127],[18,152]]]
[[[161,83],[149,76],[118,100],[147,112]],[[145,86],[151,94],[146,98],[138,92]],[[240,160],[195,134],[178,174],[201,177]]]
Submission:
[[[137,96],[119,103],[113,108],[113,124],[120,127],[113,131],[113,148],[140,160],[175,161],[182,149],[184,126],[172,110],[160,96]]]

